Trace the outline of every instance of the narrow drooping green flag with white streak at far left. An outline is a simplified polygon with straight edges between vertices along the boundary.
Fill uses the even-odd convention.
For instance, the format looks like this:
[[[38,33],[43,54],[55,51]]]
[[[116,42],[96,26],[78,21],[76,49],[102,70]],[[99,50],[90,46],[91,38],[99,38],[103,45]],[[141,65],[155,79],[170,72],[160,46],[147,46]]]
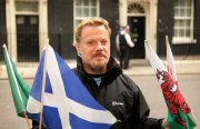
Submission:
[[[3,53],[16,111],[19,117],[24,117],[30,87],[18,73],[16,66],[9,57],[6,44],[3,44]]]

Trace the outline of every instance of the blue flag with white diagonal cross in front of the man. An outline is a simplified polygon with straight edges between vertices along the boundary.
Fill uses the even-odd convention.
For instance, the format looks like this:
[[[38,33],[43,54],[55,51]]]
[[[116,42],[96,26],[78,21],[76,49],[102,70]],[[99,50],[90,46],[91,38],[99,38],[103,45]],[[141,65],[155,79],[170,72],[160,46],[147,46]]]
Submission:
[[[107,129],[117,119],[100,106],[63,59],[49,46],[43,96],[43,123],[48,129]],[[27,110],[39,121],[44,52],[30,91]]]

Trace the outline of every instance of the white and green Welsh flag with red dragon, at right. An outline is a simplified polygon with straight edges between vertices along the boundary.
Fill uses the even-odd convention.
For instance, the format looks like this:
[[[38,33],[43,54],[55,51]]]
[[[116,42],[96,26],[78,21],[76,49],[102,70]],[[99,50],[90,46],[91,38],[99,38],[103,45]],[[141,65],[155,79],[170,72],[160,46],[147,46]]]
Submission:
[[[172,53],[168,47],[169,44],[167,44],[168,56],[171,54],[171,57],[168,57],[169,60],[169,58],[172,59]],[[146,42],[146,52],[162,89],[168,107],[167,121],[170,129],[193,129],[196,122],[191,117],[191,109],[181,95],[177,80],[174,80],[177,79],[176,72],[173,71],[176,70],[174,63],[169,62],[167,69],[148,42]]]

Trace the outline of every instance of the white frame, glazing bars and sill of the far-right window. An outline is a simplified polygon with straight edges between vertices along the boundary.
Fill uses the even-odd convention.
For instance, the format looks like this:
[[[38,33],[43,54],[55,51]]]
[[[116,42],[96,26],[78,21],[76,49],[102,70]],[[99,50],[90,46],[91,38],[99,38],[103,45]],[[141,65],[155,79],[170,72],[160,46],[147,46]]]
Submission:
[[[174,10],[176,9],[188,9],[188,7],[187,6],[176,6],[176,7],[173,7],[174,8]],[[190,17],[184,17],[184,16],[173,16],[173,20],[176,21],[176,20],[182,20],[182,21],[186,21],[186,20],[190,20],[190,37],[187,37],[186,36],[186,31],[183,30],[183,37],[182,36],[174,36],[174,33],[173,33],[173,38],[172,38],[172,43],[173,44],[180,44],[180,43],[196,43],[197,41],[196,41],[196,39],[193,39],[193,8],[194,8],[194,6],[193,6],[193,0],[191,0],[191,7],[189,7],[189,8],[191,8],[191,14],[190,14]],[[180,29],[180,26],[178,24],[178,27],[176,27],[176,26],[173,26],[173,32],[177,30],[177,31],[179,31],[178,33],[180,33],[180,29],[186,29],[187,27],[183,24]]]

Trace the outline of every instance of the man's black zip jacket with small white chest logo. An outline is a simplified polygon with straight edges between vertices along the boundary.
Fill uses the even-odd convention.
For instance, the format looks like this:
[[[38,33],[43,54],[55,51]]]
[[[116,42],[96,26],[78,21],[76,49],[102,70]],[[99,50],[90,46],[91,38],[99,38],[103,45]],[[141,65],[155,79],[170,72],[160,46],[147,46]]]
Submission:
[[[80,57],[73,71],[93,98],[119,120],[112,128],[161,129],[162,119],[148,118],[150,109],[142,92],[128,76],[122,73],[112,57],[107,67],[108,71],[103,75],[99,87],[92,76],[83,70]]]

